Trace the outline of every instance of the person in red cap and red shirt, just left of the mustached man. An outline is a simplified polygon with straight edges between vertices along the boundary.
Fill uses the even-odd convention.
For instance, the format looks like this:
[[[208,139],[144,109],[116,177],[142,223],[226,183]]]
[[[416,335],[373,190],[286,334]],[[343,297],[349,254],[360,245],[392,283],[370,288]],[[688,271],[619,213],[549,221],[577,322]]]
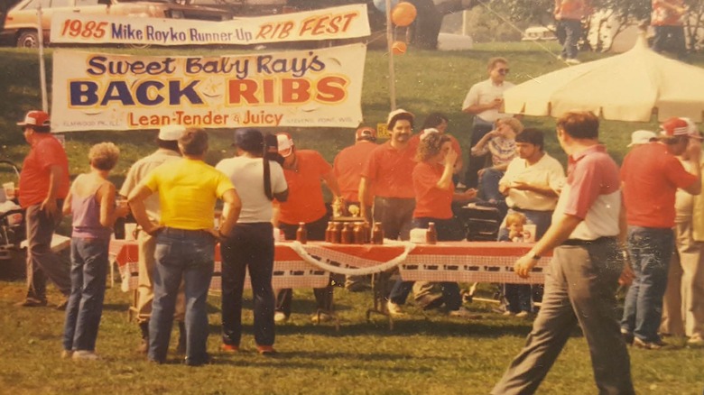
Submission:
[[[362,178],[362,166],[369,158],[369,154],[376,148],[376,130],[369,126],[362,126],[355,133],[355,143],[338,153],[333,162],[335,177],[342,198],[345,200],[347,208],[350,206],[359,207],[359,180]],[[369,211],[371,207],[367,207]],[[345,288],[361,291],[368,288],[369,276],[347,276]]]

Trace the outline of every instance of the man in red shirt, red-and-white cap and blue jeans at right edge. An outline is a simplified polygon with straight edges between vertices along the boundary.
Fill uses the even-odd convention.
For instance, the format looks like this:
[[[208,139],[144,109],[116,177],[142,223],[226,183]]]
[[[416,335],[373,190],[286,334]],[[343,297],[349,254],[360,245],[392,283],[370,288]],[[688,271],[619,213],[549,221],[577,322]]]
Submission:
[[[625,297],[621,333],[626,342],[646,349],[664,345],[658,328],[674,248],[675,192],[681,188],[699,195],[701,191],[701,137],[697,128],[689,120],[676,117],[660,127],[660,140],[628,152],[621,168],[628,250],[635,273]],[[692,164],[691,173],[675,157],[685,151]]]

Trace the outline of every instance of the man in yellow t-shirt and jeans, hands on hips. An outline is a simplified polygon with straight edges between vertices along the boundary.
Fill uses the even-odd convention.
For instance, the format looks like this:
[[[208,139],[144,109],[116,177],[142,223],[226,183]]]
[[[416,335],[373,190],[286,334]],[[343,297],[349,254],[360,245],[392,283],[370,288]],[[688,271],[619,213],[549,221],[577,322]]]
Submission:
[[[186,364],[208,363],[206,302],[213,274],[215,242],[229,234],[242,207],[239,196],[222,172],[203,159],[208,133],[189,129],[179,139],[183,158],[154,169],[129,196],[134,219],[144,232],[156,237],[153,272],[154,299],[149,322],[148,358],[166,361],[176,297],[181,279],[186,294]],[[153,223],[144,199],[159,194],[162,217]],[[215,229],[216,199],[224,202],[225,219]]]

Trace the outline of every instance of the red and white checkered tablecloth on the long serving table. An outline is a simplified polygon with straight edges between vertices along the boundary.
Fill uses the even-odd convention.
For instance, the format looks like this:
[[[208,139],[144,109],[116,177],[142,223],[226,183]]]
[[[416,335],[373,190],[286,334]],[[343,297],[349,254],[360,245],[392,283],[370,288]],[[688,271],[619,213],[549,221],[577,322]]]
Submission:
[[[402,244],[331,244],[308,243],[302,246],[320,261],[339,268],[369,268],[380,266],[401,255]],[[398,266],[403,280],[458,282],[542,283],[543,259],[528,279],[514,274],[515,260],[528,253],[532,244],[498,242],[445,242],[434,245],[418,244]],[[137,287],[137,253],[134,241],[114,240],[110,253],[120,267],[123,289]],[[215,273],[211,289],[220,289],[220,254],[216,250]],[[273,266],[273,287],[320,288],[328,283],[329,272],[305,262],[292,248],[292,243],[276,243]],[[249,286],[249,280],[245,280]]]

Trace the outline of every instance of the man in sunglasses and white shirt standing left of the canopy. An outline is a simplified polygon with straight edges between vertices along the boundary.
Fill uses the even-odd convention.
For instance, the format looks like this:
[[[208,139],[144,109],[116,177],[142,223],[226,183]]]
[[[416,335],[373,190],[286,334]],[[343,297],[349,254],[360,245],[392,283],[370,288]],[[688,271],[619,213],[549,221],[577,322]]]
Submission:
[[[506,116],[502,114],[504,91],[514,86],[511,82],[505,81],[509,71],[508,60],[505,58],[490,59],[486,69],[489,78],[469,88],[467,97],[462,103],[462,112],[474,115],[470,148],[494,129],[494,123],[498,118]],[[477,171],[483,169],[485,163],[486,156],[472,158],[469,155],[465,176],[465,185],[468,188],[477,188]]]

